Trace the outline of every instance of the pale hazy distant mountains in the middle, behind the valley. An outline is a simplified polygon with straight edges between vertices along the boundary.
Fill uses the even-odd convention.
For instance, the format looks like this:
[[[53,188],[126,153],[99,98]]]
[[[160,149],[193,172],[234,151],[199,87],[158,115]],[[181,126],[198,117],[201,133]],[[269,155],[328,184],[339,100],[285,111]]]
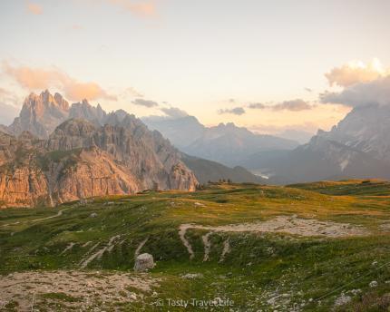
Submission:
[[[260,151],[292,150],[299,145],[297,141],[250,132],[233,122],[206,127],[194,116],[151,116],[142,118],[142,121],[161,132],[180,151],[227,166],[242,164]]]

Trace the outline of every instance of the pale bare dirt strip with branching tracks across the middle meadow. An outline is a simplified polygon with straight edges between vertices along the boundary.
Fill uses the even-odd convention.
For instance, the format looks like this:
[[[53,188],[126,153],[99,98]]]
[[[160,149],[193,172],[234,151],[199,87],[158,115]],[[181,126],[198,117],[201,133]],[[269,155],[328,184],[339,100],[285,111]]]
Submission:
[[[299,219],[295,216],[278,216],[275,219],[269,219],[264,222],[229,224],[218,227],[203,226],[200,224],[181,224],[179,228],[180,239],[183,245],[187,248],[190,258],[194,258],[194,252],[190,242],[185,238],[188,229],[205,229],[211,231],[202,237],[203,244],[205,246],[204,261],[209,259],[209,236],[213,232],[273,232],[306,237],[322,236],[328,238],[341,238],[368,234],[366,229],[359,228],[348,223],[336,223],[318,219]],[[226,250],[229,250],[229,248],[226,247]]]

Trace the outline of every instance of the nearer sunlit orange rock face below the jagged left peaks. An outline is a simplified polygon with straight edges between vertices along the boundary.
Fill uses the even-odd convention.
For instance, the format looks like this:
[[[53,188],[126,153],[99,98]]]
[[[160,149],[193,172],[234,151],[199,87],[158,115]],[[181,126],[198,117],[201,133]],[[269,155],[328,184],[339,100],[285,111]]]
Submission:
[[[141,190],[195,190],[194,174],[158,132],[132,116],[95,127],[68,120],[48,140],[0,136],[1,206],[30,207]]]

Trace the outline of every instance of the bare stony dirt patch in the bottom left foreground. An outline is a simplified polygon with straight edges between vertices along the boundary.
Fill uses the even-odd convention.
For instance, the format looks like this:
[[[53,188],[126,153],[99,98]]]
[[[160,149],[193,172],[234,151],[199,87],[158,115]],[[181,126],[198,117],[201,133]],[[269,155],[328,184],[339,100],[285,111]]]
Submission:
[[[59,308],[57,310],[89,311],[102,310],[102,307],[106,307],[104,310],[112,310],[110,307],[115,307],[118,302],[141,300],[142,292],[150,292],[151,288],[158,286],[157,278],[150,278],[147,275],[132,276],[126,273],[94,271],[13,273],[0,277],[2,289],[0,309],[10,302],[17,302],[19,311],[32,311],[34,307],[42,307],[46,301],[52,305],[58,302],[65,306],[57,307]],[[53,294],[54,297],[47,298],[45,297],[47,294],[49,296]]]

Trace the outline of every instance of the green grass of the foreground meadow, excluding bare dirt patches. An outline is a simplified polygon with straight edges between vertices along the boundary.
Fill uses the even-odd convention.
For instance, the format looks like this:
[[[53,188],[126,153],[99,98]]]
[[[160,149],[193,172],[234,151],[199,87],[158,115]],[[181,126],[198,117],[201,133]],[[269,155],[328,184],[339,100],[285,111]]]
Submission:
[[[80,269],[88,249],[98,243],[98,248],[105,246],[115,235],[121,236],[122,244],[115,245],[110,253],[105,252],[101,259],[93,260],[86,269],[129,272],[134,265],[135,249],[148,237],[141,252],[149,252],[157,260],[150,274],[161,278],[161,287],[155,289],[159,295],[145,294],[142,302],[126,304],[121,306],[123,309],[146,307],[146,310],[164,311],[166,306],[153,305],[157,298],[167,304],[172,298],[221,297],[233,300],[234,310],[283,311],[299,305],[302,310],[329,311],[342,291],[360,288],[361,295],[338,309],[349,311],[362,307],[385,311],[390,307],[385,297],[390,292],[390,284],[386,283],[390,281],[387,265],[390,236],[380,226],[390,220],[390,199],[385,195],[388,185],[380,181],[328,183],[286,188],[213,184],[193,193],[150,191],[94,199],[87,205],[73,202],[55,209],[1,210],[0,272]],[[195,205],[196,202],[204,206]],[[59,210],[63,210],[61,217],[44,219]],[[91,218],[92,213],[97,217]],[[202,261],[201,241],[207,231],[187,232],[195,252],[192,260],[178,234],[182,223],[218,226],[291,214],[352,223],[366,227],[372,234],[324,239],[276,233],[214,233],[210,236],[212,249],[208,262]],[[15,222],[19,223],[4,226]],[[219,262],[227,238],[231,252],[225,261]],[[83,244],[89,241],[84,248]],[[71,242],[75,243],[73,249],[61,255]],[[202,277],[181,278],[187,273],[200,273]],[[369,288],[372,280],[378,282],[377,288]],[[269,299],[283,294],[285,297],[277,298],[281,306],[272,307]],[[171,307],[170,310],[182,309]],[[189,310],[198,309],[190,307]]]

